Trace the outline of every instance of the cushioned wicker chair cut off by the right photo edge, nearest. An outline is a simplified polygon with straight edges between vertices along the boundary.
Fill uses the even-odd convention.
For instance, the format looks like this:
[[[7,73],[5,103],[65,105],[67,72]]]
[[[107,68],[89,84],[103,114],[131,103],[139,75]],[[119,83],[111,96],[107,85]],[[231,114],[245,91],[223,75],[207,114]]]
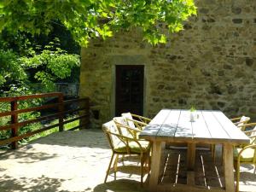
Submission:
[[[256,123],[253,123],[253,125],[256,125]],[[236,169],[236,192],[239,192],[240,165],[254,164],[254,166],[256,166],[256,126],[254,126],[252,131],[245,131],[245,133],[250,135],[250,144],[234,148],[234,166]]]

